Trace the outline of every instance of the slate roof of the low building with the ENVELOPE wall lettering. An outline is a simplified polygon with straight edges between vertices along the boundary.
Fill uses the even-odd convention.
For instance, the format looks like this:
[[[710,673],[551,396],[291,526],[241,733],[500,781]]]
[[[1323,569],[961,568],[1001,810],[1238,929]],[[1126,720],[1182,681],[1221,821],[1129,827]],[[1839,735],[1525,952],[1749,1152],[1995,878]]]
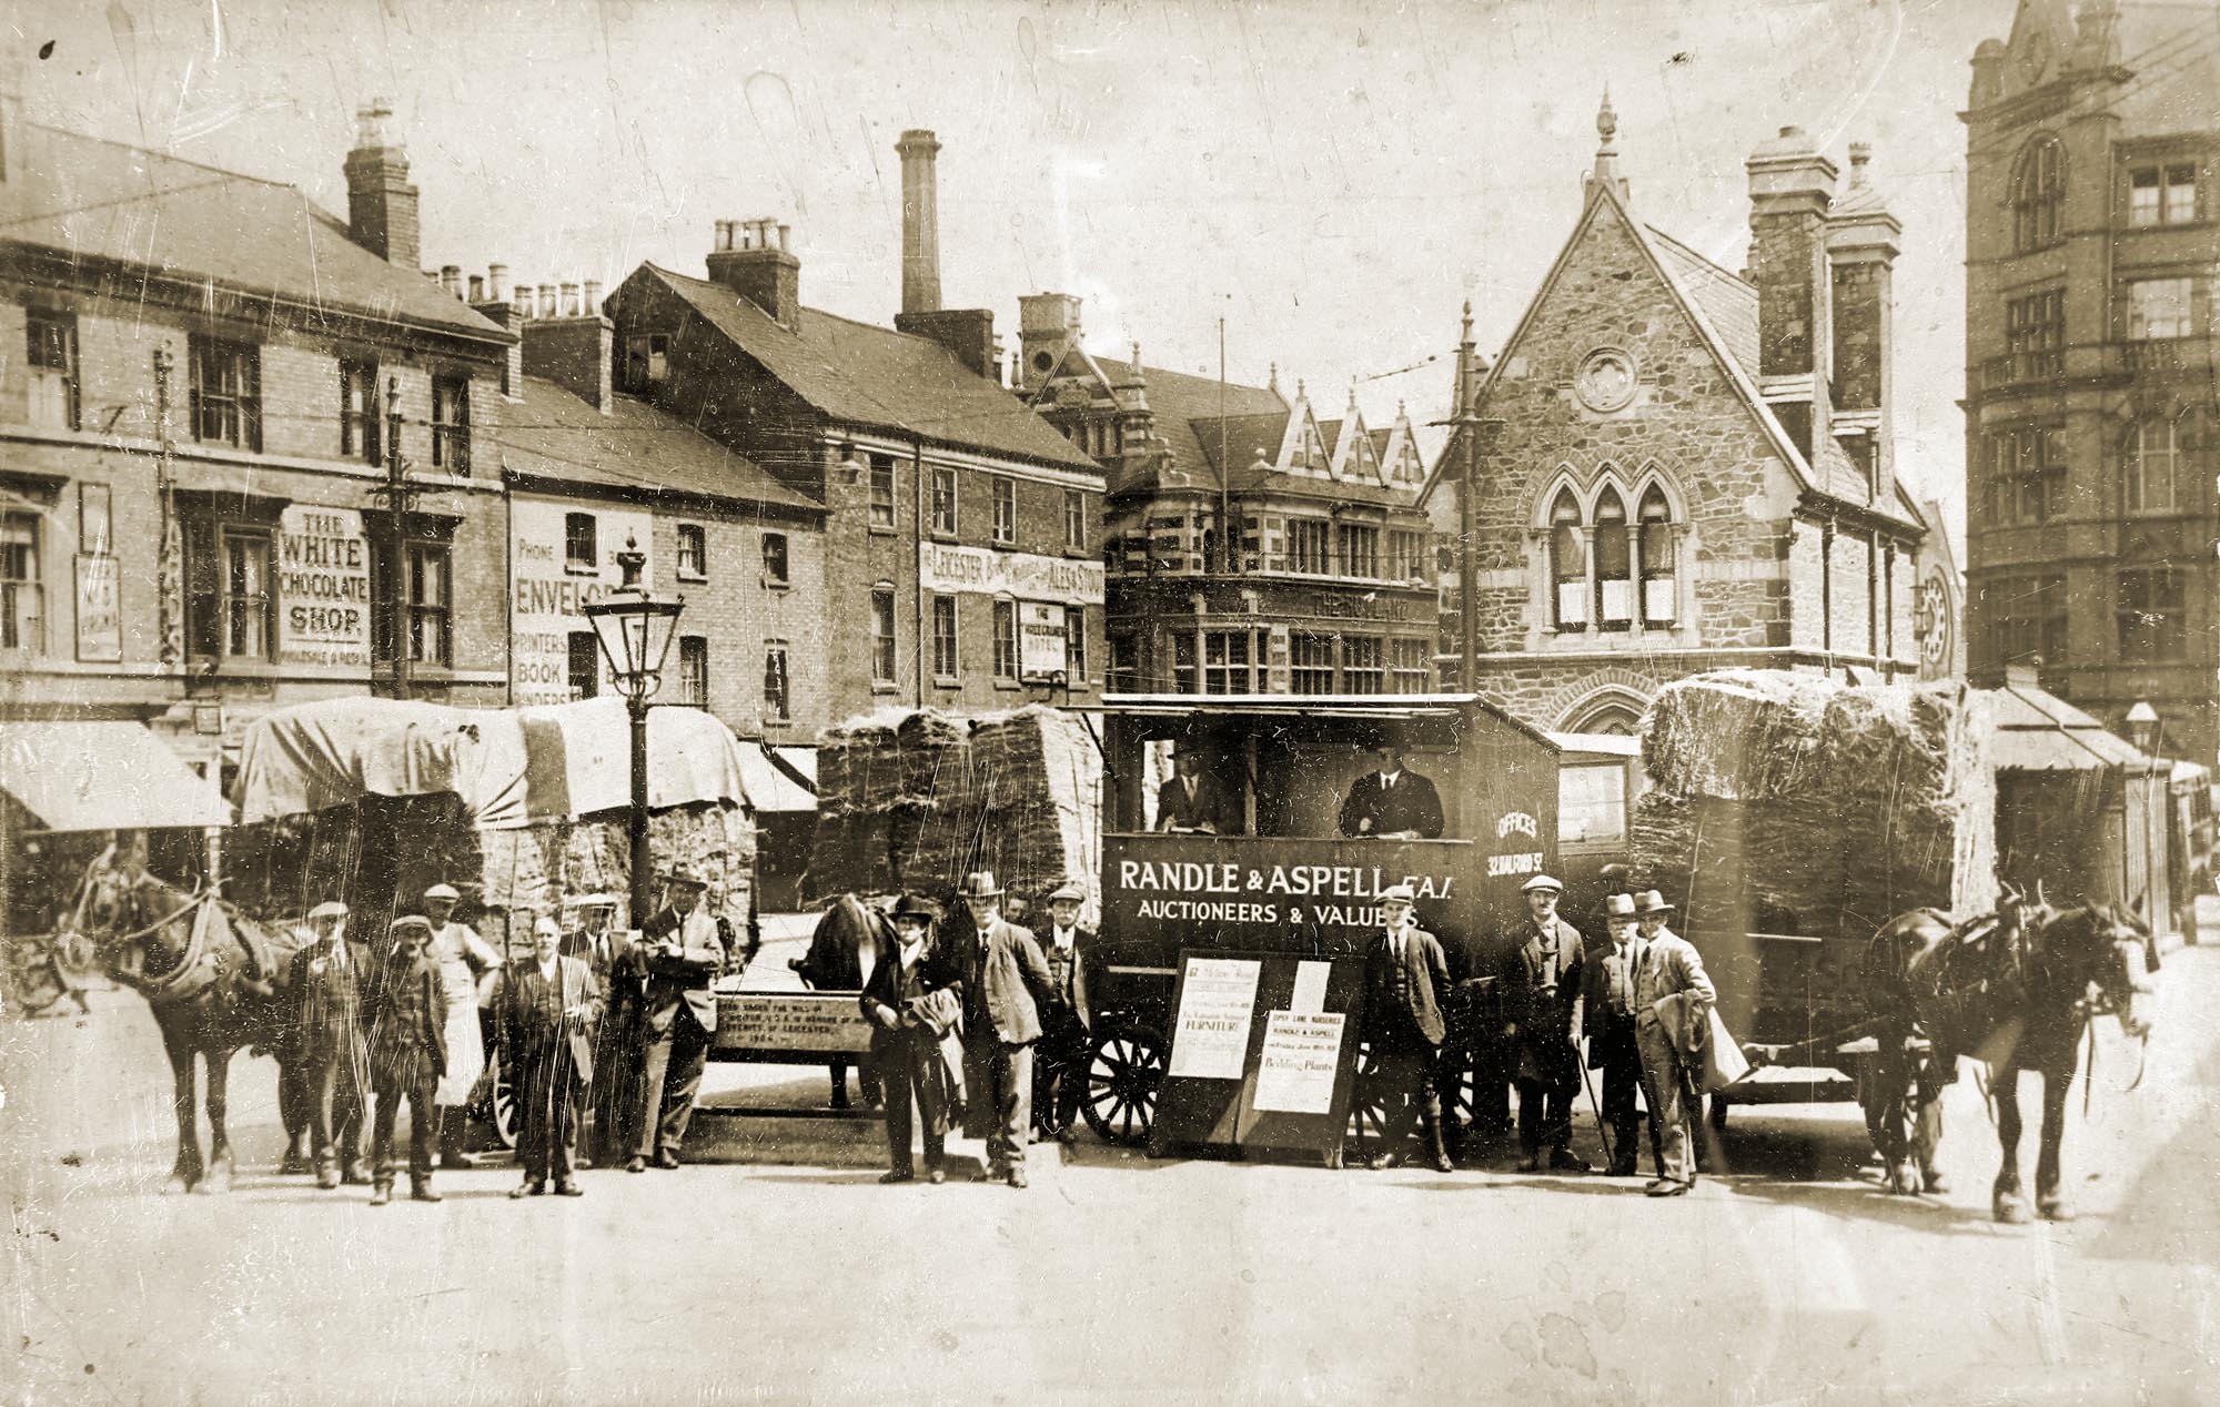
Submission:
[[[824,504],[757,462],[630,395],[617,395],[602,415],[555,382],[524,377],[522,404],[508,411],[495,439],[508,473],[824,513]]]

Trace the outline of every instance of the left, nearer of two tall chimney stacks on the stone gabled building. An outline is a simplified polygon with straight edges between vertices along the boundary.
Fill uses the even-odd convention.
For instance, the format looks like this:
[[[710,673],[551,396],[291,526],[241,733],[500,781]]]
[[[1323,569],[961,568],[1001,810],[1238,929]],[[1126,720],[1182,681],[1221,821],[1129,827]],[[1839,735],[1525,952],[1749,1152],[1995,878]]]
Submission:
[[[1812,455],[1829,435],[1827,206],[1836,169],[1800,126],[1783,126],[1743,166],[1749,171],[1749,282],[1758,286],[1758,377],[1789,437]]]

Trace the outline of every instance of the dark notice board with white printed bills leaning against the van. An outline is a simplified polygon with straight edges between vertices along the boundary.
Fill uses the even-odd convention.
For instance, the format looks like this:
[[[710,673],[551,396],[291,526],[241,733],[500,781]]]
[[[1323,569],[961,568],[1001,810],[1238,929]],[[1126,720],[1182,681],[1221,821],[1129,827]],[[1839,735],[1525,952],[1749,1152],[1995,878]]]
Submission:
[[[1359,956],[1181,950],[1152,1152],[1310,1150],[1339,1165],[1363,992]]]

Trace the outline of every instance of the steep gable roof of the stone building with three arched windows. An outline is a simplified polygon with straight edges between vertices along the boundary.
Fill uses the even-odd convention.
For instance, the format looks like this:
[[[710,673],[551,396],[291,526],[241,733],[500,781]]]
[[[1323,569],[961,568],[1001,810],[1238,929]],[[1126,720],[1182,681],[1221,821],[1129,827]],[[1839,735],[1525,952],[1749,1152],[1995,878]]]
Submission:
[[[1783,464],[1787,464],[1798,486],[1807,493],[1867,508],[1907,528],[1920,528],[1918,510],[1909,504],[1900,484],[1894,493],[1883,495],[1883,499],[1876,502],[1867,488],[1865,475],[1849,462],[1849,455],[1843,453],[1843,446],[1836,444],[1834,435],[1820,435],[1814,453],[1807,457],[1796,448],[1796,442],[1789,439],[1780,417],[1776,417],[1772,406],[1765,404],[1765,397],[1758,391],[1756,286],[1740,275],[1727,273],[1687,244],[1636,220],[1627,211],[1625,198],[1618,195],[1612,182],[1594,182],[1590,189],[1592,195],[1587,206],[1581,211],[1581,220],[1572,226],[1572,235],[1567,235],[1556,262],[1550,264],[1550,273],[1543,277],[1541,286],[1534,289],[1534,297],[1527,302],[1525,313],[1518,317],[1512,335],[1503,342],[1503,353],[1481,382],[1479,402],[1485,404],[1487,397],[1494,395],[1496,382],[1503,377],[1505,366],[1512,364],[1514,348],[1525,340],[1534,317],[1550,300],[1550,291],[1565,273],[1565,264],[1572,262],[1574,251],[1594,229],[1596,220],[1610,211],[1625,226],[1634,246],[1647,257],[1672,300],[1694,324],[1696,335],[1709,346],[1712,355],[1727,373],[1736,397],[1743,402],[1743,408],[1749,411],[1765,437],[1772,439],[1774,453]],[[1447,468],[1447,453],[1450,446],[1443,448],[1443,459],[1434,462],[1434,473],[1427,479],[1421,502],[1432,495],[1434,484],[1443,477]]]

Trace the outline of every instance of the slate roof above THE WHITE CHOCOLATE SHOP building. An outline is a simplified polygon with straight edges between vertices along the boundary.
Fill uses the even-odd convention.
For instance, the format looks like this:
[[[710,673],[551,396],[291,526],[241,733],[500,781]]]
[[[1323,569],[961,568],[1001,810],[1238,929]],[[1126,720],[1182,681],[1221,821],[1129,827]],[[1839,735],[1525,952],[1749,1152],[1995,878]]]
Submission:
[[[346,220],[297,186],[53,126],[18,133],[22,180],[0,184],[0,244],[511,342],[420,271],[349,240]]]

